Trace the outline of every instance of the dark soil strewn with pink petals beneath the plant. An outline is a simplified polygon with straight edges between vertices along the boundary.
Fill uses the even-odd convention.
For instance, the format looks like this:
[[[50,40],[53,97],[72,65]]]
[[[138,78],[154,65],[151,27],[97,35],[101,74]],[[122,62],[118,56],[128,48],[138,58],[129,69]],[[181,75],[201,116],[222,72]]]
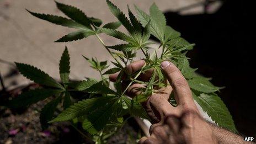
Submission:
[[[35,87],[39,86],[32,84],[25,88],[2,93],[0,101],[3,97],[17,97],[22,91]],[[79,134],[69,122],[57,122],[46,130],[42,130],[39,120],[40,110],[49,100],[30,105],[26,109],[8,109],[0,106],[0,143],[93,143]],[[131,120],[119,132],[111,136],[108,143],[134,143],[138,130],[136,126],[136,122]]]

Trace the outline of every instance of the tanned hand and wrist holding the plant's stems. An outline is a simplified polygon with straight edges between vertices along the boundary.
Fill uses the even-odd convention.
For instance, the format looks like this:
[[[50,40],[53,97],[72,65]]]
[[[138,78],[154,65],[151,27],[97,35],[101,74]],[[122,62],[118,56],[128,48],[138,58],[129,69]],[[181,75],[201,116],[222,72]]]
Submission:
[[[126,67],[128,73],[140,70],[145,61],[140,60]],[[243,138],[202,119],[196,107],[188,82],[179,69],[169,61],[161,63],[169,85],[160,88],[142,103],[153,121],[150,137],[142,137],[139,143],[248,143]],[[140,81],[147,82],[152,71],[141,74]],[[118,73],[110,75],[115,82]],[[123,86],[127,86],[124,82]],[[127,90],[127,95],[135,97],[140,94],[143,84],[134,83]],[[177,106],[169,103],[170,94],[174,93]]]

